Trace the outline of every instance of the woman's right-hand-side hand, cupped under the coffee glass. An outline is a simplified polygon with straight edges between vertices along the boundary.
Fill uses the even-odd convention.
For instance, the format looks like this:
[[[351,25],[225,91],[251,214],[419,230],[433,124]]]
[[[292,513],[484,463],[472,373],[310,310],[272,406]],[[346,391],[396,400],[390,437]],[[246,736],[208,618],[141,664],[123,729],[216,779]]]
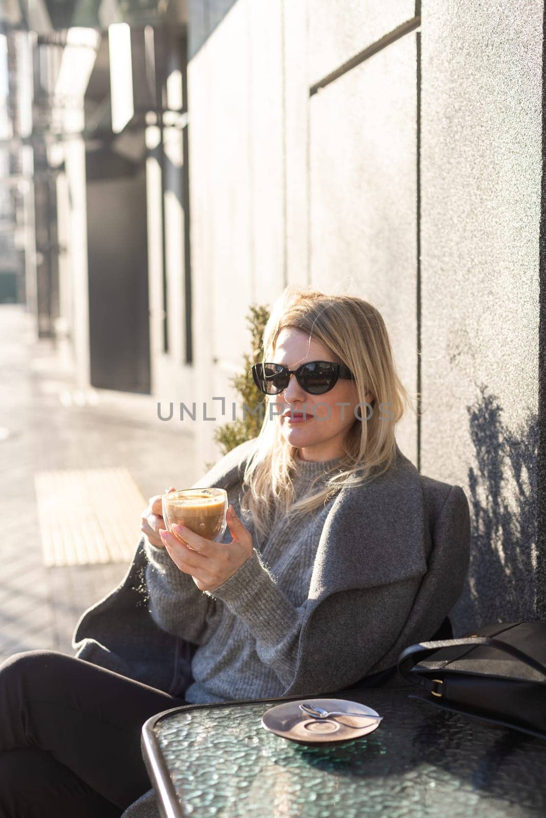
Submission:
[[[252,535],[235,514],[233,506],[226,514],[232,542],[212,542],[190,531],[183,525],[174,525],[174,533],[159,529],[159,534],[171,560],[183,573],[189,573],[200,591],[214,591],[232,577],[252,555]]]

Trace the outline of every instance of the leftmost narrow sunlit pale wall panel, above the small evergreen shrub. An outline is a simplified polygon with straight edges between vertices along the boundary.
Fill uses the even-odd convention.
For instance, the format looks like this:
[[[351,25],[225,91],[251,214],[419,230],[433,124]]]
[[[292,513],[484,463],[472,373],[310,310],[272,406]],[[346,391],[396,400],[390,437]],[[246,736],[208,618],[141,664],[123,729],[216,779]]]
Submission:
[[[214,16],[215,3],[204,5]],[[248,9],[238,2],[188,66],[196,367],[189,397],[198,407],[209,403],[207,416],[215,416],[214,396],[235,398],[228,378],[246,348],[243,317],[253,290],[247,26]],[[197,451],[214,461],[218,423],[198,417]]]

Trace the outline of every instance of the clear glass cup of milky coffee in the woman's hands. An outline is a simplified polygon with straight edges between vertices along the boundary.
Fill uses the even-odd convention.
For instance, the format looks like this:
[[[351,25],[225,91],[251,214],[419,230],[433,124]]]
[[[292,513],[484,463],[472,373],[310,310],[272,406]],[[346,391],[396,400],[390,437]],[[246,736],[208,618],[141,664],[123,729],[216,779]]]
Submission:
[[[161,497],[165,527],[173,531],[174,524],[185,525],[190,531],[219,542],[226,530],[228,492],[223,488],[182,488]]]

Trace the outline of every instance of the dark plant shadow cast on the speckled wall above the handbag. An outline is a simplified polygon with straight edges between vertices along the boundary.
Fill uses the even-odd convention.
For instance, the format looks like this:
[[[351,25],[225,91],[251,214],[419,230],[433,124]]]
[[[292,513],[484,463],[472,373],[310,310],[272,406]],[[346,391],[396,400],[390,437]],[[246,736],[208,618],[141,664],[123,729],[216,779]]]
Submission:
[[[538,415],[514,433],[498,399],[480,387],[467,407],[476,452],[468,470],[472,546],[467,584],[453,609],[457,635],[486,622],[536,618]]]

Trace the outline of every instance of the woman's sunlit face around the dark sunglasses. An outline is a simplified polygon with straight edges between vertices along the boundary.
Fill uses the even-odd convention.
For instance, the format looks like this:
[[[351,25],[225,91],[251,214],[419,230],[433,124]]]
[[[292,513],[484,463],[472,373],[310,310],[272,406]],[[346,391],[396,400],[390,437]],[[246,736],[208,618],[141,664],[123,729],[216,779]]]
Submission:
[[[297,369],[308,361],[341,363],[323,344],[310,340],[305,332],[281,330],[272,363]],[[366,400],[371,398],[368,393]],[[356,420],[354,414],[359,403],[354,380],[338,378],[329,392],[311,395],[301,388],[296,375],[291,375],[287,388],[278,395],[272,395],[269,402],[275,404],[270,410],[274,416],[272,422],[280,425],[283,438],[291,446],[297,447],[300,459],[305,461],[319,462],[340,457],[343,453],[341,441],[354,423],[362,422]],[[298,413],[304,411],[307,419],[299,419]],[[360,407],[359,411],[366,417],[366,407]]]

